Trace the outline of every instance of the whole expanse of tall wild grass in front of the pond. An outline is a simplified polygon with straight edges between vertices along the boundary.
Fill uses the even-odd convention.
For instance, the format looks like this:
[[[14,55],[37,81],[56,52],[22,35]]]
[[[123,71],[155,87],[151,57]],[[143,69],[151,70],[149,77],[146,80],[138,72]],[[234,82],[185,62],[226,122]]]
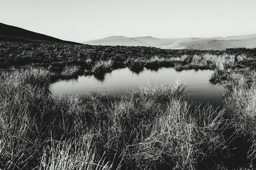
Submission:
[[[228,74],[221,111],[189,106],[182,83],[57,98],[50,77],[0,72],[0,169],[255,167],[253,76]]]

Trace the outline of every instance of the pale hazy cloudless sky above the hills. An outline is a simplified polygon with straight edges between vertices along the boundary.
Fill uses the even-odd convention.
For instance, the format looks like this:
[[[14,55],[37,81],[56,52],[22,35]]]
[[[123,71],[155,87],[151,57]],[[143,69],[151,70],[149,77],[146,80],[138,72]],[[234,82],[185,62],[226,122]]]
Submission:
[[[255,0],[0,0],[0,22],[70,41],[256,33]]]

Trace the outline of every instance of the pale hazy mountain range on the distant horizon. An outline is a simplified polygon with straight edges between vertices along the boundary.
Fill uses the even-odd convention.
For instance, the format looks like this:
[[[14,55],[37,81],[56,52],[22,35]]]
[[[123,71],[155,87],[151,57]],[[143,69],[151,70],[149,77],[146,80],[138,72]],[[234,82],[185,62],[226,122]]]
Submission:
[[[154,46],[163,49],[225,50],[226,48],[256,48],[256,34],[215,38],[154,38],[152,36],[110,36],[92,41],[88,45]]]

